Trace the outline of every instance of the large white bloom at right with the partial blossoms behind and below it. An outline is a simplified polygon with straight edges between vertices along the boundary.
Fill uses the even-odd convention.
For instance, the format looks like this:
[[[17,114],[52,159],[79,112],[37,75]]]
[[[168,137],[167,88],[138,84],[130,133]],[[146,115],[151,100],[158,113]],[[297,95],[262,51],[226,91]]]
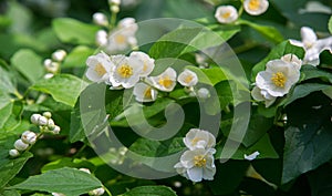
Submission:
[[[256,76],[256,86],[251,95],[257,101],[263,101],[266,107],[274,103],[277,97],[286,95],[300,79],[302,61],[294,54],[271,60],[267,69]]]

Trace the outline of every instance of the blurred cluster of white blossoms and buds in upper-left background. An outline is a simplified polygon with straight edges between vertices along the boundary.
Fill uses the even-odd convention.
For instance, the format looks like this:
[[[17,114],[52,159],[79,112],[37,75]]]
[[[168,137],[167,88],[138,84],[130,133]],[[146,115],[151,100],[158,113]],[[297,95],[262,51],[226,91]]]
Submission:
[[[106,16],[103,13],[94,14],[95,23],[107,25]],[[134,49],[137,47],[137,39],[135,37],[138,30],[138,24],[134,18],[124,18],[118,21],[117,27],[112,31],[98,30],[95,35],[95,41],[105,52],[114,54],[116,52],[124,51],[126,49]]]

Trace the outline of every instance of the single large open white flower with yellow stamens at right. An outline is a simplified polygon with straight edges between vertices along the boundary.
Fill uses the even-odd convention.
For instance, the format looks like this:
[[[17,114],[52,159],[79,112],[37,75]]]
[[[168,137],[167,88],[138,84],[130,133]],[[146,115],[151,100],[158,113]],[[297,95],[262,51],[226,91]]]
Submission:
[[[256,85],[271,96],[283,96],[300,79],[300,70],[293,63],[272,60],[267,70],[256,76]]]

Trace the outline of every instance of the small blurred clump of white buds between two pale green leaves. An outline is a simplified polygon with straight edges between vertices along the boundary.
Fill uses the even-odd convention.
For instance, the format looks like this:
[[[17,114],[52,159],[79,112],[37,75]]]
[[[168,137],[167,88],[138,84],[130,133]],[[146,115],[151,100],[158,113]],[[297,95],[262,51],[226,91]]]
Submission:
[[[44,75],[44,79],[51,79],[54,76],[54,74],[59,73],[61,62],[66,56],[66,52],[64,50],[56,50],[52,53],[52,59],[45,59],[44,60],[44,68],[46,70],[46,74]]]

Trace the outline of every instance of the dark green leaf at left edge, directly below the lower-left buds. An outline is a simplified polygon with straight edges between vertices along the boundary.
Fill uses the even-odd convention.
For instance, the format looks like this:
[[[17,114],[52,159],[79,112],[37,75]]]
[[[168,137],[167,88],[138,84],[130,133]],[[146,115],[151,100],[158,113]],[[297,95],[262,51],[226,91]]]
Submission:
[[[32,157],[32,154],[25,152],[17,158],[6,157],[4,159],[0,161],[0,189],[4,187],[8,182],[21,171],[21,168],[30,157]]]

